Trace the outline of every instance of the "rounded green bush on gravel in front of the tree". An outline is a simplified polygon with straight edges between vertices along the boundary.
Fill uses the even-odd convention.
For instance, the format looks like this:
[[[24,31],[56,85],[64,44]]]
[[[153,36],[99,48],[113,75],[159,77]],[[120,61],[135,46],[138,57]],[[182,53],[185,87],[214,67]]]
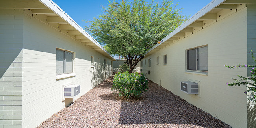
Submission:
[[[143,92],[148,90],[148,80],[144,74],[118,73],[115,74],[111,90],[118,91],[119,96],[125,98],[139,98]]]

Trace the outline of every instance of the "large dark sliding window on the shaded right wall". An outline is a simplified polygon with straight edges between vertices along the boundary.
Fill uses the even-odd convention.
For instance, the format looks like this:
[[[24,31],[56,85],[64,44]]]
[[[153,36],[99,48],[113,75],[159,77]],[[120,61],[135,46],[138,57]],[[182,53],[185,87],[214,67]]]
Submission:
[[[208,46],[187,50],[187,70],[208,71]]]

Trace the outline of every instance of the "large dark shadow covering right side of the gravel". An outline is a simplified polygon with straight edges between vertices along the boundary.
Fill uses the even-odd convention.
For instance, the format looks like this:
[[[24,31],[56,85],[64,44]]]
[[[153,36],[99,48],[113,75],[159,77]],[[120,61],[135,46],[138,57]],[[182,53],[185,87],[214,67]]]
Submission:
[[[156,83],[149,85],[149,91],[143,93],[139,100],[121,99],[113,93],[102,94],[100,97],[103,100],[122,101],[119,124],[190,124],[211,128],[222,125],[219,119]]]

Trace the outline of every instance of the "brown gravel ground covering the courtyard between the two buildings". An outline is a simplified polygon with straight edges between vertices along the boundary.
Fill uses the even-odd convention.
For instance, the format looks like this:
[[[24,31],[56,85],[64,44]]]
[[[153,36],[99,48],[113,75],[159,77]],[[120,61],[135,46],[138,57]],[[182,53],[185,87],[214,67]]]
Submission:
[[[230,128],[179,96],[149,82],[139,100],[111,91],[113,76],[37,128]]]

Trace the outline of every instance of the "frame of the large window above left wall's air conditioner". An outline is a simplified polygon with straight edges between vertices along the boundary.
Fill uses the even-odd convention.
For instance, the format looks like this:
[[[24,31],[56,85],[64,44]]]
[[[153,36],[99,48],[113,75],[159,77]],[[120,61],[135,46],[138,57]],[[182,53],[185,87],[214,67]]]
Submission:
[[[57,72],[56,72],[56,76],[74,73],[74,52],[69,51],[69,50],[64,50],[64,49],[56,48],[56,61],[57,61],[57,50],[63,51],[63,53],[64,53],[64,60],[63,60],[63,72],[64,73],[57,74]],[[72,72],[69,72],[69,73],[66,73],[66,52],[72,53]],[[57,65],[56,65],[56,70],[57,70]]]

